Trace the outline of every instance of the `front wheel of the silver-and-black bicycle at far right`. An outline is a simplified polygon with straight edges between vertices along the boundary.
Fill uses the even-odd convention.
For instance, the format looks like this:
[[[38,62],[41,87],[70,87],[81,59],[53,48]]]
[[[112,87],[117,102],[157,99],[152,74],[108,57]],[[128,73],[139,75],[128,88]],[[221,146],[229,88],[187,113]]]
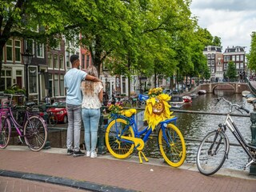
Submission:
[[[216,173],[223,165],[228,150],[226,135],[214,130],[202,139],[197,153],[197,166],[201,174]]]

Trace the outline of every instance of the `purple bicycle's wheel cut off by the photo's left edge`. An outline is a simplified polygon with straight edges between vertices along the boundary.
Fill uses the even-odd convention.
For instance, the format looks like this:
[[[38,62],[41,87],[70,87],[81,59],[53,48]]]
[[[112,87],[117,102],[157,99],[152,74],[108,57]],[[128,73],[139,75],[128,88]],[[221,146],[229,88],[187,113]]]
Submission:
[[[0,127],[0,148],[4,149],[8,146],[10,141],[10,120],[6,116],[1,117],[1,127]]]

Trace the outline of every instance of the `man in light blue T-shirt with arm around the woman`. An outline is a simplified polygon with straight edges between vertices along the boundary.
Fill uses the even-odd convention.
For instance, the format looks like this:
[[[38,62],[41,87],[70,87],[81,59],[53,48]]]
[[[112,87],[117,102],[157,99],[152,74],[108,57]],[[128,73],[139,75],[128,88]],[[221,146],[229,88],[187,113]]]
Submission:
[[[72,69],[70,69],[64,76],[64,86],[66,87],[66,110],[69,121],[66,134],[66,147],[68,155],[73,154],[74,157],[78,157],[85,155],[79,147],[82,122],[82,92],[80,85],[84,79],[94,82],[100,82],[100,80],[79,70],[80,60],[77,54],[71,55],[70,62],[72,64]]]

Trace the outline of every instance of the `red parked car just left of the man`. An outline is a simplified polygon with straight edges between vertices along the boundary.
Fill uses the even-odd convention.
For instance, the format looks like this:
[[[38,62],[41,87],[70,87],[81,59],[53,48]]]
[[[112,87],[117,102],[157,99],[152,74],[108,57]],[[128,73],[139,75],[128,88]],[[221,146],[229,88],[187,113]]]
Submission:
[[[66,112],[66,102],[65,101],[59,101],[54,102],[52,106],[56,107],[50,107],[48,110],[54,114],[56,114],[58,118],[58,122],[67,123],[67,112]]]

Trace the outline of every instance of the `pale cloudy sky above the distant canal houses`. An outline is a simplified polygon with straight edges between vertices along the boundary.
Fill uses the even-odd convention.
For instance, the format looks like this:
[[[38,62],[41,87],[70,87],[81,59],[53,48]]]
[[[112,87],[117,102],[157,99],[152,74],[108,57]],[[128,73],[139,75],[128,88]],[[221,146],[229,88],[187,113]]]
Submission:
[[[255,0],[192,0],[190,11],[198,17],[198,25],[222,41],[222,53],[227,46],[246,46],[256,31]]]

